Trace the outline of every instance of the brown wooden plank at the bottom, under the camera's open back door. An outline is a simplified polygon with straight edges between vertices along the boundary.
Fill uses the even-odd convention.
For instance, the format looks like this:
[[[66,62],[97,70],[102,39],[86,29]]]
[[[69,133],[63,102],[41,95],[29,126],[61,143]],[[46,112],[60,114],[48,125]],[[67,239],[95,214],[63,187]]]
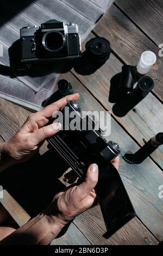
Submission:
[[[80,228],[93,245],[157,245],[158,241],[144,227],[144,225],[133,218],[124,225],[109,239],[103,239],[105,225],[101,216],[99,206],[89,209],[82,215],[76,217],[73,221]],[[90,223],[93,223],[91,225]],[[98,237],[97,235],[98,234]]]

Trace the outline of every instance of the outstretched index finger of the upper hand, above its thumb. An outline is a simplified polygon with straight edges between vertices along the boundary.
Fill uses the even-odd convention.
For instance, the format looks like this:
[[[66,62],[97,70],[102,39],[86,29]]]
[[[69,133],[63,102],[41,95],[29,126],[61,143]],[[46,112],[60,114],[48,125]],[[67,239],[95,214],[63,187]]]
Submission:
[[[75,93],[72,95],[67,95],[66,97],[63,97],[62,99],[52,103],[51,105],[43,108],[40,112],[41,115],[45,118],[51,118],[53,115],[53,112],[59,111],[62,107],[66,106],[67,102],[70,100],[77,101],[79,99],[79,94]],[[39,113],[37,112],[37,113]]]

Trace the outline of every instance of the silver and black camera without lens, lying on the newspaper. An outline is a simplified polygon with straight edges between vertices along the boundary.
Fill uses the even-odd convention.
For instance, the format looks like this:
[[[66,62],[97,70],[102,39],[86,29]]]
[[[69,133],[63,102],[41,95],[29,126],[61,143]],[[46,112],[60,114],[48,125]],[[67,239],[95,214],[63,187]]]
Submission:
[[[79,58],[82,53],[78,26],[49,20],[41,27],[20,30],[22,62],[45,62]]]

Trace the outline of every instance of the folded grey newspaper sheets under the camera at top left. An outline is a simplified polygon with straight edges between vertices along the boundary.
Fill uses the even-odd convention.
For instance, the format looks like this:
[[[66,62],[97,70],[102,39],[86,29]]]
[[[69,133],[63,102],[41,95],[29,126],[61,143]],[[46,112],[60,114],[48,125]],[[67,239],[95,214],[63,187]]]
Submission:
[[[37,77],[4,75],[4,67],[10,66],[9,47],[19,39],[22,27],[40,26],[51,19],[65,23],[76,23],[82,40],[95,27],[96,22],[110,7],[113,0],[37,0],[26,1],[28,5],[20,10],[20,1],[1,0],[0,16],[0,96],[4,99],[39,110],[42,102],[53,92],[58,74]],[[7,6],[8,5],[8,6]],[[2,11],[3,10],[3,11]],[[8,12],[15,14],[7,19]]]

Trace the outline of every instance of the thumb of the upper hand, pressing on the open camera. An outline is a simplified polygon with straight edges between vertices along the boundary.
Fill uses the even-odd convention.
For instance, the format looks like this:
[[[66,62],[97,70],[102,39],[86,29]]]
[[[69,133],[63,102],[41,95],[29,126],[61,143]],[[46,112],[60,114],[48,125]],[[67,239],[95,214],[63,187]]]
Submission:
[[[39,130],[36,130],[33,133],[33,141],[35,144],[39,144],[42,141],[45,141],[45,139],[52,137],[57,132],[61,130],[61,124],[60,123],[53,123],[47,126],[43,126]]]

